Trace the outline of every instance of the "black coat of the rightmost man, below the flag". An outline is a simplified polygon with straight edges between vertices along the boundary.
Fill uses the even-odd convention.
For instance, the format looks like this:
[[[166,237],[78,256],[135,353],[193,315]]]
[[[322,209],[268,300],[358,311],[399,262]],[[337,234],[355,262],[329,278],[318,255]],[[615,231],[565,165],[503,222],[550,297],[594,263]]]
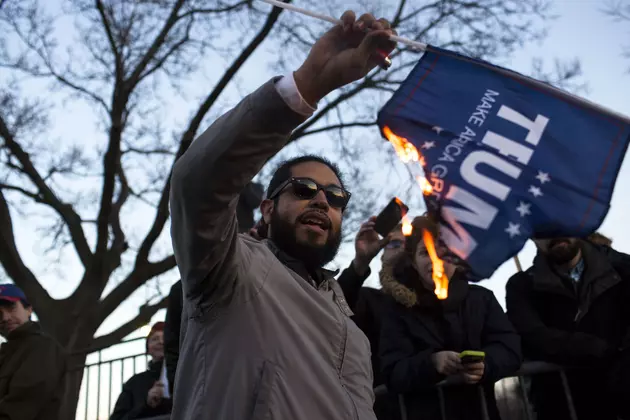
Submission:
[[[582,255],[579,288],[542,255],[508,281],[508,316],[526,357],[583,366],[630,344],[630,256],[587,242]]]

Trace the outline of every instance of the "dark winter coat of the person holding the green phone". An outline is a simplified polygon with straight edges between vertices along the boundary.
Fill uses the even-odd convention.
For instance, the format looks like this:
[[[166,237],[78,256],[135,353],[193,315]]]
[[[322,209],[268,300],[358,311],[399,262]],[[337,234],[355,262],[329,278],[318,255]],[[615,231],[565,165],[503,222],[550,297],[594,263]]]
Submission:
[[[445,419],[481,419],[482,390],[490,418],[498,419],[494,383],[521,364],[516,331],[491,291],[469,285],[456,274],[448,298],[440,301],[432,291],[416,292],[396,280],[415,275],[410,270],[397,273],[391,280],[394,284],[383,282],[383,290],[393,296],[383,319],[379,349],[389,390],[405,395],[408,418],[440,419],[435,385],[445,377],[436,371],[431,356],[440,351],[484,351],[481,386],[444,388]]]

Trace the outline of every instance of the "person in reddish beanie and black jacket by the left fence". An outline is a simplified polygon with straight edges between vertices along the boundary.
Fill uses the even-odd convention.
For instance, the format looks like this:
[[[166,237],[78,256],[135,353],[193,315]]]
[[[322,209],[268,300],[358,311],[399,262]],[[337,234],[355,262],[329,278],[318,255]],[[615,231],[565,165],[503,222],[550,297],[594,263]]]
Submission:
[[[143,419],[171,412],[171,399],[164,397],[164,384],[160,381],[164,361],[163,322],[151,327],[146,351],[151,356],[148,369],[125,382],[110,420]]]

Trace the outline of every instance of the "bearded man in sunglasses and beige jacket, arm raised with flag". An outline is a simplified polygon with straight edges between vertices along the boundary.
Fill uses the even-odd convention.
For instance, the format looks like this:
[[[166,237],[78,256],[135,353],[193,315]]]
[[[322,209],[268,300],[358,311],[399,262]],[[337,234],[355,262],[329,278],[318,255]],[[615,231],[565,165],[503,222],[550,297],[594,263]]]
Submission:
[[[172,418],[374,420],[367,338],[333,274],[350,199],[334,165],[279,168],[261,205],[268,240],[237,233],[239,192],[328,93],[394,44],[389,23],[346,12],[293,74],[219,118],[173,169],[171,235],[184,294]]]

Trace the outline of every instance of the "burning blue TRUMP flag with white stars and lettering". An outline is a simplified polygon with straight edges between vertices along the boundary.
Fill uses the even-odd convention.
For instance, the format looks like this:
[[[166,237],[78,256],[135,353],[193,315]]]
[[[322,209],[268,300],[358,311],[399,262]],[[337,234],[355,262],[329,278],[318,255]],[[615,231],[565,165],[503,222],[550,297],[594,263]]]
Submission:
[[[595,231],[630,141],[627,117],[435,47],[378,124],[422,154],[433,187],[427,208],[478,278],[491,276],[530,237]]]

